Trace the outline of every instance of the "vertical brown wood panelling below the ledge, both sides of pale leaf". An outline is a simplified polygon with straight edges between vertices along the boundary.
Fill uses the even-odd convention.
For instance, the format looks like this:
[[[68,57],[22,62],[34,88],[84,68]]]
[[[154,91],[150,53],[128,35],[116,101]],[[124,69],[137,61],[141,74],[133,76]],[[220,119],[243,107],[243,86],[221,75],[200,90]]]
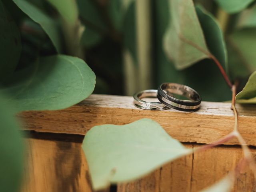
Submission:
[[[81,140],[63,135],[56,140],[24,138],[26,166],[21,192],[92,192]],[[65,141],[64,141],[65,140]],[[184,144],[196,147],[198,144]],[[256,149],[252,149],[255,156]],[[138,181],[120,184],[117,192],[196,192],[232,170],[242,158],[238,146],[220,146],[175,160]],[[235,192],[255,191],[246,168],[236,180]],[[114,192],[114,190],[112,190]]]

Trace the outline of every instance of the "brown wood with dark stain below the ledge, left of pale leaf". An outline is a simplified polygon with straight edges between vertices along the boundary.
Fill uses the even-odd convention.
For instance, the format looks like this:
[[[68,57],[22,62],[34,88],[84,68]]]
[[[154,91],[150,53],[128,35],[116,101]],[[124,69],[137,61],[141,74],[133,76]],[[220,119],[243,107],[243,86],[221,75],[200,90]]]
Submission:
[[[81,144],[25,138],[21,192],[92,192]]]

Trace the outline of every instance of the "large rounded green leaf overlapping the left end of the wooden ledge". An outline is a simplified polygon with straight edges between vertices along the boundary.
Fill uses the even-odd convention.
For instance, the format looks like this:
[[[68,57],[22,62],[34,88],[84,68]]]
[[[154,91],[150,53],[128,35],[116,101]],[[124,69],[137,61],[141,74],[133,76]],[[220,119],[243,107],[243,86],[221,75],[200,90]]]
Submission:
[[[12,78],[15,81],[3,91],[19,110],[67,108],[87,98],[95,86],[95,74],[88,65],[66,55],[39,58],[29,72],[17,72]]]

